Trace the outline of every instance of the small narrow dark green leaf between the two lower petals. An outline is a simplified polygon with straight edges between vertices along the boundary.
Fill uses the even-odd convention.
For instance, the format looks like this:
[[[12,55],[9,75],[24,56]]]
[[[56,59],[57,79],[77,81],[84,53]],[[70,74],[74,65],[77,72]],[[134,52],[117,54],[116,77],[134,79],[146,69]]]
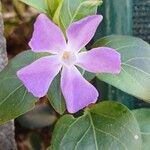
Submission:
[[[47,96],[55,111],[59,114],[63,114],[66,110],[66,107],[60,88],[60,74],[58,74],[51,83]]]

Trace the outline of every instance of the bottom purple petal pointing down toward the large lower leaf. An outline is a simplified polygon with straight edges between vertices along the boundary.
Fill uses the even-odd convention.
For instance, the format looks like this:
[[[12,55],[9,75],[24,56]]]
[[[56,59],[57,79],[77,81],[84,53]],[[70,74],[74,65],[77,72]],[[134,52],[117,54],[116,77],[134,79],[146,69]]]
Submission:
[[[95,87],[82,77],[75,66],[63,67],[61,89],[70,113],[75,113],[89,104],[95,103],[98,98]]]

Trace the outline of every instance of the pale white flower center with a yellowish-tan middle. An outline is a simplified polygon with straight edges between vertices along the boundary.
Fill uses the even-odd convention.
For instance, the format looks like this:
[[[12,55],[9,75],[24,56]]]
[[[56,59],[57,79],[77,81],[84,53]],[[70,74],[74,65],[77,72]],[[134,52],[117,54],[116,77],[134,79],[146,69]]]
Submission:
[[[61,59],[64,65],[70,66],[75,64],[77,57],[74,52],[64,51]]]

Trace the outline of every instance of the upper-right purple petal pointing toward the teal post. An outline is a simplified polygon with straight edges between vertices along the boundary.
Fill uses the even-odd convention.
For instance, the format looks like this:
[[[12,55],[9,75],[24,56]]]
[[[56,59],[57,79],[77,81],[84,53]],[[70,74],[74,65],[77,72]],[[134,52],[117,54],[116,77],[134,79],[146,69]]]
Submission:
[[[80,51],[94,36],[102,21],[101,15],[88,16],[74,22],[67,29],[68,49]]]

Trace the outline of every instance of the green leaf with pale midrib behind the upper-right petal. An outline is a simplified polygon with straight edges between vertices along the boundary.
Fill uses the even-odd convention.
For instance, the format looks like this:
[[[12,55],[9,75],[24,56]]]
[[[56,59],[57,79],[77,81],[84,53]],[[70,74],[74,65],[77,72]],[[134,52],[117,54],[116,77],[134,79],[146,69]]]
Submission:
[[[96,14],[101,3],[101,0],[64,0],[60,13],[62,28],[65,30],[72,22]]]

